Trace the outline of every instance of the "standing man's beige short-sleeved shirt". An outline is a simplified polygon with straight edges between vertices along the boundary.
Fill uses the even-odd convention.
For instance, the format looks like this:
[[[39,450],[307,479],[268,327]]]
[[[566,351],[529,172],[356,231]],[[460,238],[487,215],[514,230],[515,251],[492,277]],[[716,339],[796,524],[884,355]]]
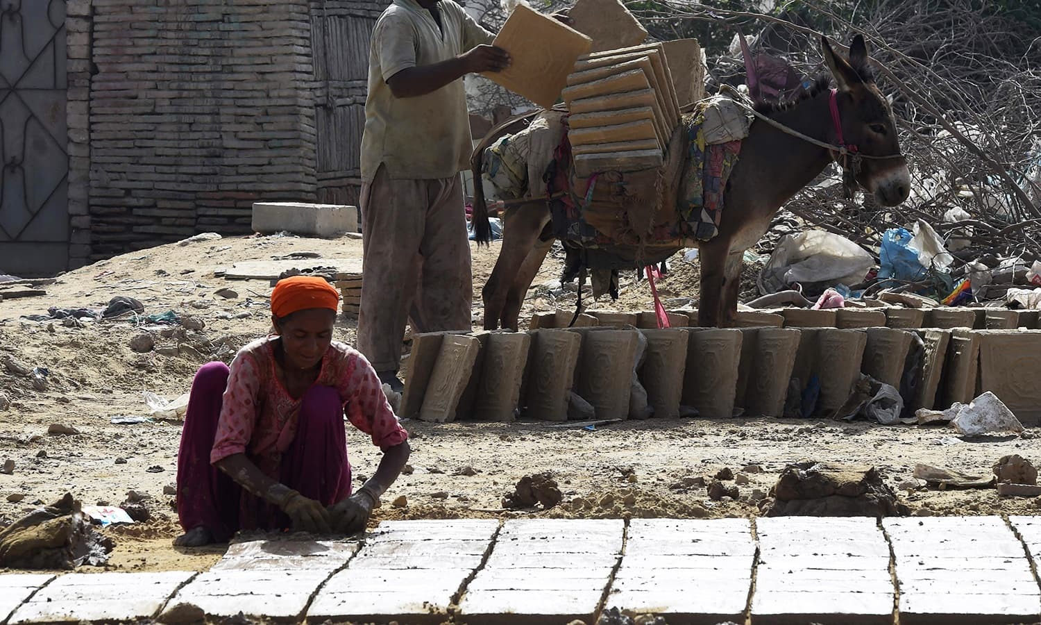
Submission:
[[[449,60],[494,35],[453,0],[437,3],[443,32],[415,0],[393,0],[373,30],[361,178],[380,165],[396,179],[451,178],[469,167],[473,142],[462,79],[415,98],[396,98],[386,81],[413,67]]]

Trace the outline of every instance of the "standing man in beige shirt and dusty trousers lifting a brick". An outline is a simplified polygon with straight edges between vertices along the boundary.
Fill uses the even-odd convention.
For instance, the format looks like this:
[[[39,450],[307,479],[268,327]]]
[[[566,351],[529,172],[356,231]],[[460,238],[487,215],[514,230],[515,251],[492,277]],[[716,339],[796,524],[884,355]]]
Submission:
[[[469,330],[459,172],[473,142],[461,78],[509,66],[454,0],[393,0],[376,22],[361,140],[364,288],[358,350],[397,392],[405,324]]]

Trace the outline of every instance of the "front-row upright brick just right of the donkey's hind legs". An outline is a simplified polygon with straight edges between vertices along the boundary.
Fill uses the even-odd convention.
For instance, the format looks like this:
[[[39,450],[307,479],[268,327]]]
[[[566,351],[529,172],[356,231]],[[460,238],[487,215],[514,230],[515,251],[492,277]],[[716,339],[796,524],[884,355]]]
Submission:
[[[528,355],[525,397],[528,417],[567,421],[582,336],[567,330],[535,330]]]

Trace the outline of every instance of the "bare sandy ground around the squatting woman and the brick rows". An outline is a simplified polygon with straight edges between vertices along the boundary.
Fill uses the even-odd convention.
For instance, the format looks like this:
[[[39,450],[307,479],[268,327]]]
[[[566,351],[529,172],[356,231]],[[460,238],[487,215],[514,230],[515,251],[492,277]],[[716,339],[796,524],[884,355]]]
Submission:
[[[220,547],[175,550],[171,545],[179,528],[173,498],[163,494],[163,488],[175,481],[180,424],[113,425],[110,420],[147,415],[143,392],[168,398],[185,393],[195,370],[210,354],[230,360],[238,347],[268,331],[269,283],[226,280],[214,277],[214,271],[234,261],[304,251],[324,258],[360,257],[361,243],[270,236],[164,246],[60,276],[56,284],[46,286],[47,296],[0,301],[0,358],[9,355],[50,372],[49,389],[37,391],[26,378],[3,374],[0,367],[0,392],[10,400],[10,406],[0,410],[0,465],[15,461],[12,475],[0,475],[0,524],[66,492],[84,504],[120,504],[132,490],[150,497],[147,506],[153,519],[104,530],[118,544],[112,568],[202,569],[215,561],[223,552]],[[498,251],[498,244],[473,250],[478,294]],[[559,253],[547,260],[529,293],[527,315],[574,306],[574,289],[556,282],[561,261]],[[659,289],[667,305],[679,307],[696,298],[697,267],[677,257],[671,269]],[[754,278],[755,270],[746,274]],[[234,290],[237,297],[214,295],[222,288]],[[143,330],[126,320],[67,327],[60,321],[21,319],[22,315],[46,314],[49,306],[103,306],[118,295],[138,299],[147,314],[172,309],[203,320],[205,328],[200,331],[178,330],[172,336],[154,332],[158,347],[186,344],[200,354],[135,353],[129,344]],[[645,310],[650,303],[646,283],[636,282],[630,274],[623,279],[619,301],[599,307]],[[480,323],[478,306],[475,322]],[[355,328],[353,321],[339,322],[336,339],[353,342]],[[52,424],[81,433],[49,435]],[[387,493],[373,523],[456,517],[756,516],[759,500],[780,471],[799,459],[873,465],[913,514],[1031,514],[1037,509],[1034,500],[999,499],[994,490],[926,491],[908,483],[917,463],[987,474],[1006,454],[1041,460],[1041,443],[1032,431],[1022,438],[968,441],[949,429],[744,419],[651,420],[594,431],[540,422],[409,422],[406,427],[413,436],[413,470]],[[349,429],[348,443],[360,483],[374,470],[379,451],[353,429]],[[685,478],[711,479],[723,467],[740,474],[747,465],[758,465],[762,472],[744,473],[747,483],[739,486],[737,500],[711,501],[704,488],[684,485],[692,481],[684,482]],[[543,471],[560,483],[563,503],[545,511],[503,509],[502,497],[518,478]],[[407,503],[392,505],[400,496]]]

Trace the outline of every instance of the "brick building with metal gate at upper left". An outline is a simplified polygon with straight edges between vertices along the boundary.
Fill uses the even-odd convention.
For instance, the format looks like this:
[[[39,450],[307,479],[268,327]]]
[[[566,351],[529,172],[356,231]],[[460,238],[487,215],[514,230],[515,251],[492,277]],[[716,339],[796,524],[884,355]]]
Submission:
[[[0,273],[356,203],[386,2],[33,0],[0,16]]]

